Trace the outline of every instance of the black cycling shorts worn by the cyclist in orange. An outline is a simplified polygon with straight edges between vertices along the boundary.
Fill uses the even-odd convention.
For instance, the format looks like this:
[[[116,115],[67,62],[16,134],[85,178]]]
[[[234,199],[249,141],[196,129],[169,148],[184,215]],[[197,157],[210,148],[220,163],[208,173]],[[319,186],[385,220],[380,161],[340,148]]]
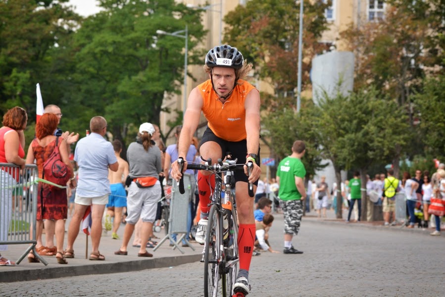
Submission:
[[[247,140],[237,141],[237,142],[231,142],[224,139],[221,139],[217,137],[212,130],[207,126],[207,129],[205,129],[204,134],[202,135],[201,143],[199,144],[199,147],[208,141],[213,141],[217,143],[221,147],[222,155],[221,159],[224,160],[224,158],[227,155],[227,152],[231,152],[232,159],[238,159],[237,163],[246,163],[246,156],[247,156]],[[256,165],[260,166],[259,160],[259,151],[260,148],[258,147],[258,153],[257,153],[257,160]],[[213,162],[215,162],[213,160]],[[243,170],[236,170],[234,171],[235,174],[235,181],[236,182],[246,182],[248,183],[248,176],[244,173]],[[255,186],[258,185],[258,181],[256,180],[253,183]]]

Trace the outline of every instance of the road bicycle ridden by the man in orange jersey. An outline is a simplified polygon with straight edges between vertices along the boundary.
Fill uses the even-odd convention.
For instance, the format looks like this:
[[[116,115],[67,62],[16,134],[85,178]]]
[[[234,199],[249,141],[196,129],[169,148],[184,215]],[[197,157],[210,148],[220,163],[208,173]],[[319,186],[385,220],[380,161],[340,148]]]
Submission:
[[[236,159],[226,158],[224,162],[218,159],[218,163],[212,165],[211,159],[208,159],[204,164],[187,165],[187,169],[207,170],[215,175],[215,188],[210,195],[210,211],[201,260],[204,262],[204,297],[216,297],[219,291],[222,292],[223,297],[244,297],[242,293],[234,295],[233,292],[239,262],[237,212],[232,193],[232,186],[235,185],[233,171],[244,170],[246,165],[236,162]],[[178,163],[182,168],[184,160],[180,158]],[[248,162],[249,175],[252,168],[253,163]],[[179,181],[179,192],[184,193],[182,179]],[[248,194],[253,197],[251,183],[249,183]],[[219,283],[220,280],[221,283]]]

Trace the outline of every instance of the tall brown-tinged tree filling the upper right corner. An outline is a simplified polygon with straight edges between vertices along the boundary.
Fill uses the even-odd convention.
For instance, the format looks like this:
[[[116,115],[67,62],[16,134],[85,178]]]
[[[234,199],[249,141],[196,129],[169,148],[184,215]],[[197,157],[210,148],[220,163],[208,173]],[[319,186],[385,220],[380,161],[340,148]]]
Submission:
[[[389,0],[385,17],[361,27],[351,24],[341,34],[348,49],[355,53],[355,90],[375,86],[389,100],[395,100],[405,110],[412,125],[411,147],[397,147],[393,156],[398,175],[402,150],[415,154],[421,148],[415,137],[413,115],[416,113],[410,94],[420,92],[425,75],[434,75],[444,66],[443,0]],[[411,153],[411,150],[414,150]]]

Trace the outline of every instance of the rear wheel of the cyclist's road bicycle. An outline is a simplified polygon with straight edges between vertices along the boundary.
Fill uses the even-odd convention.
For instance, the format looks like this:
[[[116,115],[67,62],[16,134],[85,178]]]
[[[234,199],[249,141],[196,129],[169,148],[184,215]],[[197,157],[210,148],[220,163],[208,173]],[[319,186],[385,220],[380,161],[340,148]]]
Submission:
[[[233,296],[233,285],[237,280],[238,272],[238,224],[236,219],[236,210],[232,209],[228,215],[229,231],[228,237],[224,239],[224,251],[225,251],[225,273],[222,274],[222,290],[223,297]]]

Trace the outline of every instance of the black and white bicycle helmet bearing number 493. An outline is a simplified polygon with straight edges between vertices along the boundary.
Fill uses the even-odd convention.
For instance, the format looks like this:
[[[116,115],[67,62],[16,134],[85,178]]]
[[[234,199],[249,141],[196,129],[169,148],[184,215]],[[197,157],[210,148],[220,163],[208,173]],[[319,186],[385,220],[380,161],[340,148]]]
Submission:
[[[226,67],[240,69],[243,67],[243,54],[229,45],[222,45],[210,49],[205,55],[205,64],[212,67]]]

